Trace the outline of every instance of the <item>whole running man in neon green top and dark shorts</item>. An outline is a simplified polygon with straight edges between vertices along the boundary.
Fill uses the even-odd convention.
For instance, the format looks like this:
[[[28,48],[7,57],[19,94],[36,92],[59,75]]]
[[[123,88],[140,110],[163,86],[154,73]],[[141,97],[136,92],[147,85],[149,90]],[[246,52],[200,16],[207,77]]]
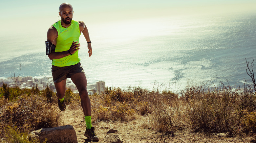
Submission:
[[[71,78],[75,84],[81,98],[86,131],[85,136],[92,141],[98,141],[91,121],[91,102],[86,89],[87,80],[84,70],[78,57],[80,49],[79,37],[83,33],[87,41],[89,56],[92,56],[91,40],[87,27],[83,21],[74,21],[73,7],[68,3],[63,3],[59,7],[61,20],[54,23],[47,32],[46,54],[52,61],[53,82],[58,97],[58,106],[61,111],[66,109],[64,101],[66,91],[66,80]]]

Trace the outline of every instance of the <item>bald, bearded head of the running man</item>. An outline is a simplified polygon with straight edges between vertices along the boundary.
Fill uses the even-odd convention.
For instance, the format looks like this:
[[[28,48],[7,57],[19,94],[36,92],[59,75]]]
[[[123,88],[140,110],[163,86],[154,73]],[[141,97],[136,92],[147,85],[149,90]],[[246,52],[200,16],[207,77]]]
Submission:
[[[73,9],[70,6],[68,5],[63,6],[59,14],[61,16],[62,22],[64,22],[67,25],[71,23],[73,18]]]

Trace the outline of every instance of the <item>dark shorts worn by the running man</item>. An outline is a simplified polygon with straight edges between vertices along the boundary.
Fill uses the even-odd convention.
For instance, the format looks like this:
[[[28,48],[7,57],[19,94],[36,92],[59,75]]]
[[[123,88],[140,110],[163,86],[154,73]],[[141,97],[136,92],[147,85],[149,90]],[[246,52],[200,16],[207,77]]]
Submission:
[[[66,67],[57,67],[52,65],[52,74],[53,74],[53,82],[58,83],[62,80],[65,80],[67,78],[70,78],[75,73],[83,72],[84,69],[81,66],[81,63],[77,63],[72,66],[66,66]]]

